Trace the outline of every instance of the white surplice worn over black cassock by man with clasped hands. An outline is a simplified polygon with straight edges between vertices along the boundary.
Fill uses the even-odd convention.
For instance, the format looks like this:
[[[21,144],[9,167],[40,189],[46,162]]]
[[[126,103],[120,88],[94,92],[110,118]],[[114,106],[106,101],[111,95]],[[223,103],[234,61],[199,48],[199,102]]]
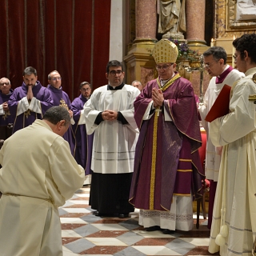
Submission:
[[[94,132],[91,170],[101,174],[125,174],[134,171],[135,146],[138,127],[134,120],[134,100],[140,91],[125,85],[122,90],[107,90],[107,86],[94,90],[83,110],[87,134]],[[118,120],[95,119],[104,110],[120,111],[128,124]],[[81,122],[79,122],[81,124]]]

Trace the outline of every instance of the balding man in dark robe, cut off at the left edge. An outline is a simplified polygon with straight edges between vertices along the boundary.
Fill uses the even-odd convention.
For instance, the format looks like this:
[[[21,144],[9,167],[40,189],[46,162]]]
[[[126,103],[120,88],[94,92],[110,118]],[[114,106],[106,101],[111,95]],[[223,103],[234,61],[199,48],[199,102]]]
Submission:
[[[0,138],[9,138],[14,125],[14,115],[10,114],[8,101],[14,90],[10,89],[8,78],[0,79]]]

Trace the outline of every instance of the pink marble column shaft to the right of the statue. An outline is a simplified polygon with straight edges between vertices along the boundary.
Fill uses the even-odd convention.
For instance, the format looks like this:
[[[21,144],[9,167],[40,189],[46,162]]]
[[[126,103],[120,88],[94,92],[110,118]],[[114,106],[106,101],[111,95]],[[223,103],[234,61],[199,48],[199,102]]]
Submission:
[[[186,0],[186,40],[190,46],[206,46],[206,0]]]

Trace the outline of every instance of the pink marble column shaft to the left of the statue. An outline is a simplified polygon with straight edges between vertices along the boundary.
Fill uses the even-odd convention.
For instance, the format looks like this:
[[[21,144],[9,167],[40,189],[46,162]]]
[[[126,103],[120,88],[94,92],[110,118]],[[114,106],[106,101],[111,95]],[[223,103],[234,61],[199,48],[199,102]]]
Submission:
[[[136,0],[136,42],[156,42],[156,0]]]

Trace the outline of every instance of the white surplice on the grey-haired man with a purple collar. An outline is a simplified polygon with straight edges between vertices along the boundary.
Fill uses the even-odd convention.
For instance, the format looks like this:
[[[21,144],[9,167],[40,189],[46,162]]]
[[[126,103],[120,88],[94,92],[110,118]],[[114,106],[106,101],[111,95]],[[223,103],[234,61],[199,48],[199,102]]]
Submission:
[[[227,65],[225,70],[229,67],[230,66]],[[242,72],[239,72],[238,70],[231,70],[222,83],[216,84],[216,77],[211,78],[206,94],[203,98],[203,103],[200,103],[198,106],[198,110],[202,118],[202,126],[205,128],[207,134],[205,166],[206,178],[211,179],[214,182],[218,182],[218,170],[221,162],[222,148],[216,148],[211,142],[208,132],[210,123],[206,122],[205,118],[211,107],[214,105],[216,98],[218,98],[218,94],[221,92],[223,86],[225,84],[232,86],[234,82],[244,77],[245,75]]]

